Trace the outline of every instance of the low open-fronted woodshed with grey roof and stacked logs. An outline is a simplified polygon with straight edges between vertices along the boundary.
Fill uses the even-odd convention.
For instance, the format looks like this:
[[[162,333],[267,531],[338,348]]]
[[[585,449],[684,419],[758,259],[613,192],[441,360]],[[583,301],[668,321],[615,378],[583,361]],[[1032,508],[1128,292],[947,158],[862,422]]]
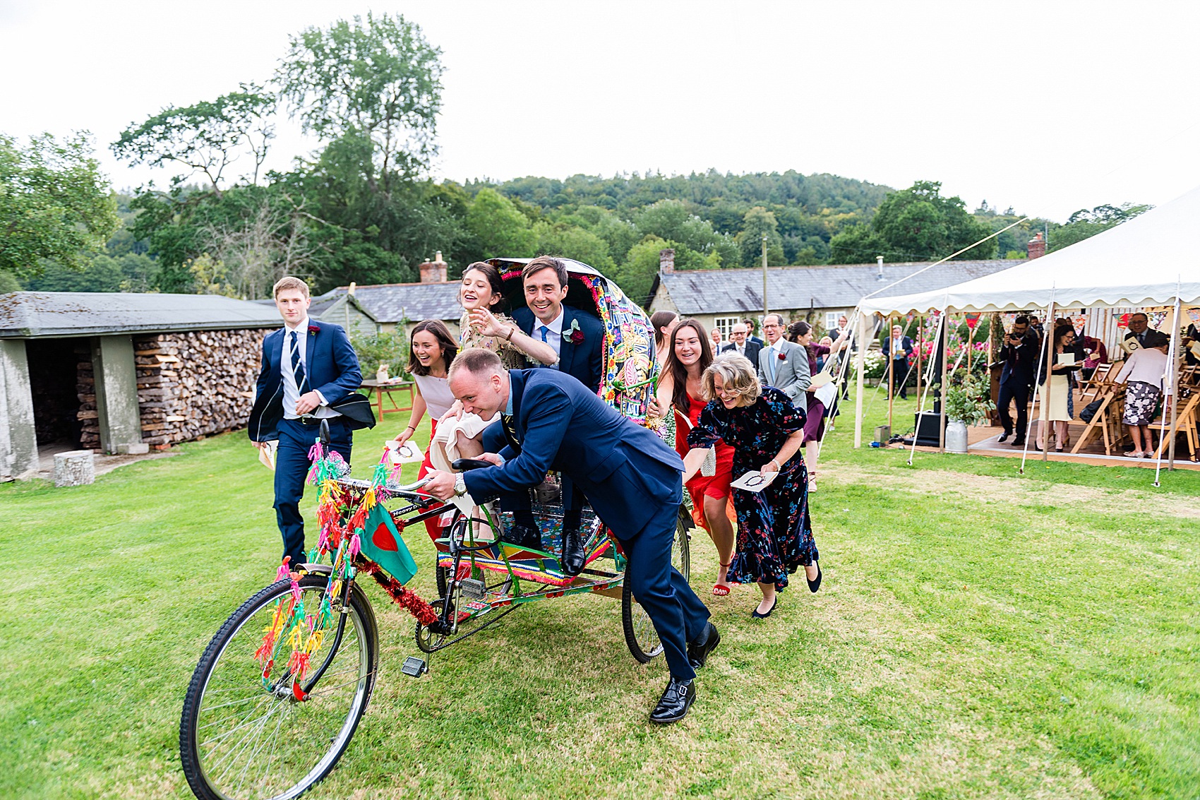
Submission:
[[[38,448],[104,453],[240,428],[274,305],[212,294],[0,295],[0,480]]]

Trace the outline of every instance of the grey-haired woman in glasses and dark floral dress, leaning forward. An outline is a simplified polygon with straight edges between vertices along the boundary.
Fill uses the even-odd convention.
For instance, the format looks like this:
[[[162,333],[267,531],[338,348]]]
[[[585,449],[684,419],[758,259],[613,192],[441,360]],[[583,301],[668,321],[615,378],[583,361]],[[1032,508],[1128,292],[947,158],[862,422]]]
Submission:
[[[762,491],[733,490],[738,541],[728,580],[757,583],[762,602],[752,616],[769,616],[778,603],[776,590],[787,586],[787,577],[797,567],[804,567],[811,591],[821,586],[808,476],[798,454],[804,441],[804,411],[779,389],[762,387],[754,365],[742,356],[715,359],[704,370],[701,388],[709,404],[688,434],[688,443],[706,448],[724,440],[733,448],[734,478],[755,471],[780,472]],[[684,459],[685,482],[700,468],[703,455],[703,449],[692,449]]]

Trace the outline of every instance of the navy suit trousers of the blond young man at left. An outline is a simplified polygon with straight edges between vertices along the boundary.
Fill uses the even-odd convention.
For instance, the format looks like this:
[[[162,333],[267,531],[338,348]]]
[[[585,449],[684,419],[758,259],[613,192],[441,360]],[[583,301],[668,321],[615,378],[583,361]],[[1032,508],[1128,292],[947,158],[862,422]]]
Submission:
[[[329,447],[350,461],[350,426],[344,417],[329,420]],[[305,425],[299,419],[280,420],[280,449],[275,454],[275,515],[283,535],[283,555],[292,556],[292,565],[302,563],[304,517],[300,501],[304,482],[308,476],[308,450],[320,435],[318,425]]]

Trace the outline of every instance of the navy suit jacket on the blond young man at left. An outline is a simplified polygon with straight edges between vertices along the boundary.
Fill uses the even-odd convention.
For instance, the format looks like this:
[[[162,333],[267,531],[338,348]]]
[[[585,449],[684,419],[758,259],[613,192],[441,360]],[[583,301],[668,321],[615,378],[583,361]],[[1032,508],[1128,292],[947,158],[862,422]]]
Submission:
[[[280,360],[286,332],[287,328],[280,328],[263,340],[263,369],[258,374],[254,407],[250,411],[246,425],[250,438],[256,442],[280,437],[276,430],[283,419],[283,372]],[[359,357],[341,326],[310,320],[308,330],[298,333],[305,336],[305,375],[308,386],[320,392],[325,402],[335,404],[362,386]],[[288,369],[292,369],[290,364]]]

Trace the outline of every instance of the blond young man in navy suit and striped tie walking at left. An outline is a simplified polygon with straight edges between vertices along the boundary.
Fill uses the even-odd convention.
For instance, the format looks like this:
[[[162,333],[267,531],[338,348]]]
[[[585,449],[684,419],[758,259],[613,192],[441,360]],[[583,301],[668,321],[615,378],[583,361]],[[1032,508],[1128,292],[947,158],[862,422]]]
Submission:
[[[283,556],[292,567],[305,561],[300,500],[308,474],[308,450],[329,425],[330,448],[350,460],[350,431],[374,425],[370,401],[355,393],[362,384],[359,358],[341,327],[308,318],[308,285],[281,277],[275,308],[283,328],[263,339],[263,369],[246,431],[256,447],[278,441],[275,454],[275,514]],[[370,419],[370,422],[367,422]]]

